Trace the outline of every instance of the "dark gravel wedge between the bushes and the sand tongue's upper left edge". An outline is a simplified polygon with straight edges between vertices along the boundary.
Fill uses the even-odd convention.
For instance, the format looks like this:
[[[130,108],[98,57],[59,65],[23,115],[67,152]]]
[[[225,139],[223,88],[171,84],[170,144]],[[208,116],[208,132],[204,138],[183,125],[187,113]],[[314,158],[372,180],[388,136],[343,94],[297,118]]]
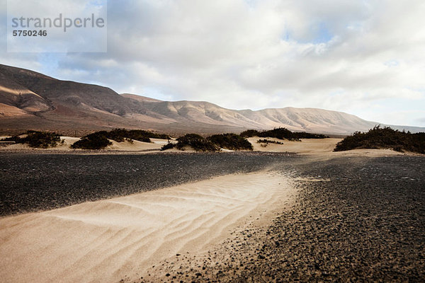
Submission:
[[[215,175],[259,171],[293,154],[0,154],[0,216],[54,209]],[[299,159],[299,157],[297,158]]]

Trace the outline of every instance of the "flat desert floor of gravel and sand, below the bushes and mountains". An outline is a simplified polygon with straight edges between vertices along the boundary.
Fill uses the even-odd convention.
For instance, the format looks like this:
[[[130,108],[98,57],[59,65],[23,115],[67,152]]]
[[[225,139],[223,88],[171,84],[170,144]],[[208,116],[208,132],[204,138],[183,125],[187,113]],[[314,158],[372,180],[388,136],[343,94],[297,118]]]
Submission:
[[[424,156],[0,149],[3,282],[423,282]],[[251,138],[255,139],[255,138]]]

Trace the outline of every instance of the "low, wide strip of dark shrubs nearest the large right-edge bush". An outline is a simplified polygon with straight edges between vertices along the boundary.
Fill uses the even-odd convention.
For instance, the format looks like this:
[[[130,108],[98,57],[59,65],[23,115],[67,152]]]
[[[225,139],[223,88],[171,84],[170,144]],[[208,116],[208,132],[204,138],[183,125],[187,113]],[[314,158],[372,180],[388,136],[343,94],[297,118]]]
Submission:
[[[288,139],[290,141],[300,141],[300,139],[325,139],[328,137],[324,134],[292,132],[286,128],[275,128],[261,132],[256,129],[248,129],[240,135],[242,137],[275,137],[276,139]]]

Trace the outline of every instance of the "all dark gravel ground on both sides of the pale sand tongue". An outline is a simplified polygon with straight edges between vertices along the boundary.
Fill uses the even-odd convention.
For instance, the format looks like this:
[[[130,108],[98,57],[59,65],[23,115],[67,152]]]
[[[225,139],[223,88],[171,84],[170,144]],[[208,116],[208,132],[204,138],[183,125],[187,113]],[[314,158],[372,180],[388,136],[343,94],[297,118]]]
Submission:
[[[423,156],[1,154],[0,215],[274,168],[298,193],[205,254],[177,254],[124,282],[425,282]]]

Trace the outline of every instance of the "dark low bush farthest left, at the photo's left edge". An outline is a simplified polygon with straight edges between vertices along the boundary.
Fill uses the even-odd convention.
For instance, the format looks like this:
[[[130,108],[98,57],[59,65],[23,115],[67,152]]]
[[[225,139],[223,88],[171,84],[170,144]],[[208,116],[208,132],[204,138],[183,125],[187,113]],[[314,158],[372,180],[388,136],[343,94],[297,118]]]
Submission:
[[[63,144],[64,140],[60,139],[60,135],[55,132],[38,132],[28,131],[26,137],[20,137],[24,134],[8,137],[2,141],[15,141],[16,144],[28,144],[33,148],[47,149],[48,147],[55,147],[57,144]]]

